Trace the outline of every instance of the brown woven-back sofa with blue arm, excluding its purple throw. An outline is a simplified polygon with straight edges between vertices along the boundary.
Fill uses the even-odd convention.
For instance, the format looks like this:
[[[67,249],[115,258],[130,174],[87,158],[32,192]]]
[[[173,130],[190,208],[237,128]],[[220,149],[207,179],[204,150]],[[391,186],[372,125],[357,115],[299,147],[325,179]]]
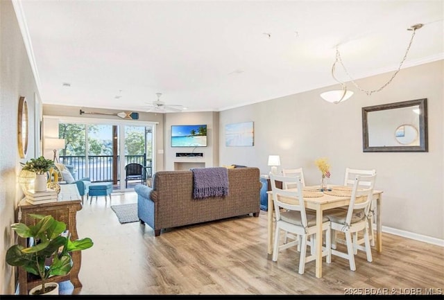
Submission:
[[[159,171],[153,177],[152,188],[139,184],[137,214],[142,224],[161,229],[196,224],[253,213],[259,216],[262,184],[259,168],[228,169],[229,193],[225,196],[193,198],[191,170]]]

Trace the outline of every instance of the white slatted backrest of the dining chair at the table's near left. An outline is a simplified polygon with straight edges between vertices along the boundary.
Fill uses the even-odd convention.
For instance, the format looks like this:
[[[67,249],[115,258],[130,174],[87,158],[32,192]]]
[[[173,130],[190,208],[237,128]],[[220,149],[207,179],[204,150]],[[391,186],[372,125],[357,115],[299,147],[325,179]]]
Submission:
[[[282,182],[282,188],[279,188],[276,182]],[[271,182],[271,193],[273,195],[273,203],[275,206],[275,218],[276,221],[279,221],[280,218],[280,209],[289,209],[290,211],[300,211],[300,218],[303,227],[307,227],[307,214],[305,212],[305,203],[304,198],[302,197],[302,179],[300,176],[280,176],[270,174],[270,182]],[[284,188],[284,184],[292,184],[296,185],[297,191]],[[291,199],[291,203],[289,204],[286,200],[283,199],[289,198]]]

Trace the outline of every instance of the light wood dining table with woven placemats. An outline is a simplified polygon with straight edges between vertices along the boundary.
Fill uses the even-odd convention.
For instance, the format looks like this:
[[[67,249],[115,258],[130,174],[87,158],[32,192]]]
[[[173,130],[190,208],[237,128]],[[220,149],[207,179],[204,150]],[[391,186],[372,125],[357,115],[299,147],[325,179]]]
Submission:
[[[296,190],[296,188],[292,188]],[[316,211],[316,225],[318,231],[316,236],[316,277],[322,277],[322,245],[323,245],[323,232],[322,232],[322,220],[323,211],[326,209],[335,209],[341,206],[348,206],[350,204],[351,193],[344,191],[350,191],[349,186],[330,186],[326,191],[320,191],[319,186],[305,186],[307,193],[302,193],[304,198],[305,208]],[[267,211],[267,227],[268,227],[268,254],[273,254],[273,192],[268,191],[268,211]],[[294,201],[294,200],[293,200]],[[373,201],[376,201],[376,238],[375,247],[377,252],[382,252],[382,191],[373,190]],[[289,200],[291,203],[291,200]],[[371,236],[371,235],[370,235]]]

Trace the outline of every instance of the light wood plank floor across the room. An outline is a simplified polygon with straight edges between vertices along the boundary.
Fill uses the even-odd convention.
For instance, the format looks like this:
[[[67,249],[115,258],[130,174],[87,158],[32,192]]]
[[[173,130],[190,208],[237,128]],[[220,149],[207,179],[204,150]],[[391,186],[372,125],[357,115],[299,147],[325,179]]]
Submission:
[[[316,279],[315,262],[298,274],[296,248],[271,261],[266,247],[266,212],[162,231],[139,222],[120,224],[110,205],[137,202],[134,192],[95,197],[77,213],[80,238],[94,246],[82,252],[82,288],[69,282],[62,294],[411,294],[444,289],[444,248],[383,233],[383,252],[364,252],[357,270],[332,256]],[[343,245],[338,245],[342,247]],[[415,289],[415,290],[413,290]]]

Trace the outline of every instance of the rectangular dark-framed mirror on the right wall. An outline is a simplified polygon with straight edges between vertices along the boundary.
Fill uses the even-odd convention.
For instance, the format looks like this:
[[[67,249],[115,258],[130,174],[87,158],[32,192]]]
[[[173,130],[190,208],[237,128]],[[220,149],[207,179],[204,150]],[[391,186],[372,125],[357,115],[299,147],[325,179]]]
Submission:
[[[362,107],[364,152],[427,152],[427,99]]]

